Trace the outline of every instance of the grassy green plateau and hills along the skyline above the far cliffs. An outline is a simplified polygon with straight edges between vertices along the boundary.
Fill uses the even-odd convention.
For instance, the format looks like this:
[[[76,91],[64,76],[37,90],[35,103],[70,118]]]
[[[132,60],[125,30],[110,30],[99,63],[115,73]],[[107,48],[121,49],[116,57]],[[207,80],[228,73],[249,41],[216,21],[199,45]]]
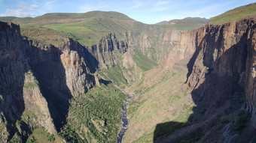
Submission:
[[[182,19],[175,25],[147,25],[131,19],[123,13],[105,12],[105,11],[91,11],[87,13],[46,13],[35,18],[19,18],[14,16],[0,17],[2,21],[11,21],[20,24],[24,36],[32,37],[41,43],[53,44],[61,42],[59,38],[55,38],[56,34],[64,34],[66,37],[71,37],[78,40],[84,46],[93,46],[99,43],[102,37],[109,33],[116,34],[120,40],[127,38],[126,32],[139,32],[151,34],[154,31],[166,31],[170,29],[178,30],[192,30],[198,28],[187,25],[187,20],[192,20],[193,25],[202,25],[200,19]],[[44,36],[31,31],[31,29],[40,29],[40,34],[44,32]],[[43,30],[51,29],[49,30]],[[30,32],[30,33],[29,33]],[[53,40],[49,40],[52,37]],[[47,35],[51,35],[50,37]]]

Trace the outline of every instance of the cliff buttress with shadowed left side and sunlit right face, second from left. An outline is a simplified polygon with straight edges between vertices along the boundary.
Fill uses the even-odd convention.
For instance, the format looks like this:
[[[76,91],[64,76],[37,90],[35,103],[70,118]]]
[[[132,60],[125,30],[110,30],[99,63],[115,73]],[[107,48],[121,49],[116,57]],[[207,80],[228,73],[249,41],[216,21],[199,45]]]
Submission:
[[[72,39],[65,40],[58,46],[26,40],[31,46],[27,52],[29,64],[47,100],[57,131],[66,124],[69,100],[95,85],[92,73],[98,65],[84,46]]]

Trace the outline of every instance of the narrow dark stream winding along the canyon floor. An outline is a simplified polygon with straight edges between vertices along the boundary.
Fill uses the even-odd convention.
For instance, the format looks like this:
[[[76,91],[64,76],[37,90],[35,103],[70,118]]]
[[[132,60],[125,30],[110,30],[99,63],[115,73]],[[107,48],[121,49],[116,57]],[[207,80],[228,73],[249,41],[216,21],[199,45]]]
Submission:
[[[127,127],[128,126],[127,106],[128,106],[130,98],[131,97],[128,94],[128,98],[126,99],[126,102],[123,104],[123,109],[122,109],[122,112],[121,112],[121,118],[122,118],[122,121],[123,121],[123,127],[122,127],[122,129],[120,130],[120,133],[117,136],[117,143],[121,143],[122,142],[124,133],[128,129],[128,127]]]

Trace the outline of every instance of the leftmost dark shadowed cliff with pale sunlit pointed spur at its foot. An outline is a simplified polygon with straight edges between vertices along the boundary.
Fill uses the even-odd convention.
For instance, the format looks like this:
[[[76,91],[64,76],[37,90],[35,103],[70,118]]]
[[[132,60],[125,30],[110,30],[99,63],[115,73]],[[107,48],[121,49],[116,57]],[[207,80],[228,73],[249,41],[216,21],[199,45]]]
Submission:
[[[2,142],[21,142],[34,127],[56,133],[47,102],[31,73],[26,57],[29,45],[20,36],[20,27],[1,22],[0,33]]]

